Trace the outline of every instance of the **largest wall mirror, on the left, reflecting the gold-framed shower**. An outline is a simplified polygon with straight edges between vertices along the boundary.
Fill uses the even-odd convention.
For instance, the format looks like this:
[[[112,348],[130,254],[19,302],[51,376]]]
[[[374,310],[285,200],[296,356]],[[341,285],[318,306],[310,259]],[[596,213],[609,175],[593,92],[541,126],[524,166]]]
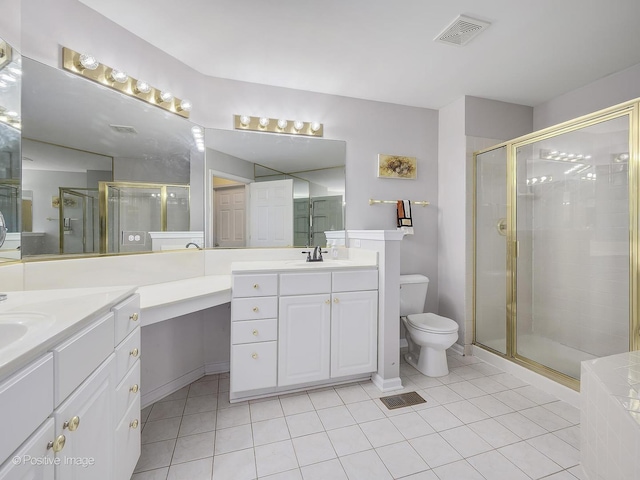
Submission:
[[[202,245],[191,122],[27,58],[23,71],[23,258]]]

